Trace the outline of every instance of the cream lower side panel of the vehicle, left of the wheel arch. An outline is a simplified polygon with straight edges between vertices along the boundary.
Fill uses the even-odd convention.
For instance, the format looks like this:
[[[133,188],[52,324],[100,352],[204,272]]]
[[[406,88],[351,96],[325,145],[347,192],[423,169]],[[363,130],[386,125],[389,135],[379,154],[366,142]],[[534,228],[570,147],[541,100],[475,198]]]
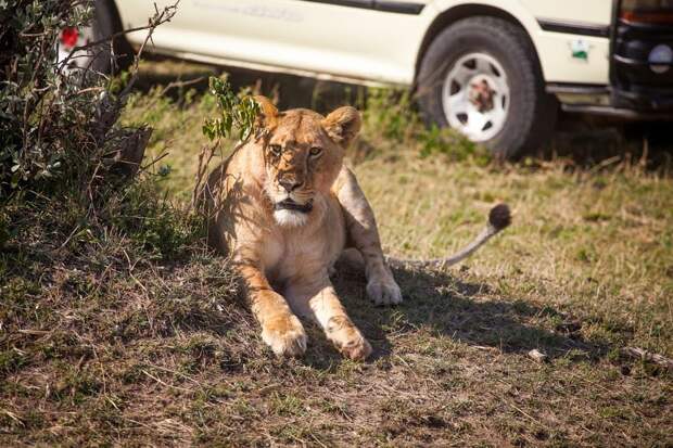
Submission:
[[[125,27],[141,25],[153,10],[144,2],[117,4]],[[160,52],[408,85],[432,18],[301,0],[187,0],[153,40]],[[142,38],[129,36],[131,43]]]

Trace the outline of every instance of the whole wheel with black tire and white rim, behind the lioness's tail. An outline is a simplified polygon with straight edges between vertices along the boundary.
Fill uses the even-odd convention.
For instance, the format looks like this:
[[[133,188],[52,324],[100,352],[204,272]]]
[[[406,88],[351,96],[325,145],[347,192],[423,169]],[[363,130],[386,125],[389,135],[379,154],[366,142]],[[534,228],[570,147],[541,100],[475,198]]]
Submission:
[[[487,16],[436,36],[421,62],[417,93],[428,124],[455,128],[500,158],[538,146],[558,111],[525,31]]]

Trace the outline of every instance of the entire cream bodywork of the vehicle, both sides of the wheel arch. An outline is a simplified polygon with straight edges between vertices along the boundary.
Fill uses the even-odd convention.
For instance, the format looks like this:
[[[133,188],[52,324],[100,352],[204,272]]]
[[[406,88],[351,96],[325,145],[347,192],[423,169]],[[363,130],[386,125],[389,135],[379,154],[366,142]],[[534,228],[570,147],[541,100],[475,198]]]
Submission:
[[[161,8],[172,1],[157,1]],[[154,51],[212,63],[361,84],[411,85],[423,38],[435,18],[464,5],[486,5],[528,31],[547,82],[607,85],[609,39],[543,30],[539,20],[608,26],[611,0],[405,0],[419,14],[305,0],[182,0],[153,36]],[[125,28],[152,15],[151,2],[117,0]],[[129,36],[139,44],[144,33]],[[575,47],[587,57],[573,56]]]

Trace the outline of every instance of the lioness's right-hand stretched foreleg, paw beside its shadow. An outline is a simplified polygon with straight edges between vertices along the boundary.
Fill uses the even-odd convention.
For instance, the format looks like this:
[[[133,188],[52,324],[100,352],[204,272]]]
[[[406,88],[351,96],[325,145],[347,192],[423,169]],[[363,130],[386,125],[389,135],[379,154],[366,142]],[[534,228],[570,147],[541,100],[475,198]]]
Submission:
[[[293,307],[307,310],[342,355],[365,359],[371,354],[371,345],[348,318],[327,273],[313,282],[291,282],[285,295]]]

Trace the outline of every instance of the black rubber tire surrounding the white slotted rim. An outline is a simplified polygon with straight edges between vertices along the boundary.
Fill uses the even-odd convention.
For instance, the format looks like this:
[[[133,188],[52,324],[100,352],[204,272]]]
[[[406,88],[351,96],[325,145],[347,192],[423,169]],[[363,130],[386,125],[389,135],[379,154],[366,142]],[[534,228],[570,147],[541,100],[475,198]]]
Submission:
[[[558,103],[545,92],[535,49],[525,30],[497,17],[465,18],[440,33],[426,52],[418,75],[419,105],[426,121],[448,126],[443,84],[454,64],[469,53],[495,59],[507,76],[509,108],[503,128],[483,143],[500,158],[534,150],[554,130]]]

